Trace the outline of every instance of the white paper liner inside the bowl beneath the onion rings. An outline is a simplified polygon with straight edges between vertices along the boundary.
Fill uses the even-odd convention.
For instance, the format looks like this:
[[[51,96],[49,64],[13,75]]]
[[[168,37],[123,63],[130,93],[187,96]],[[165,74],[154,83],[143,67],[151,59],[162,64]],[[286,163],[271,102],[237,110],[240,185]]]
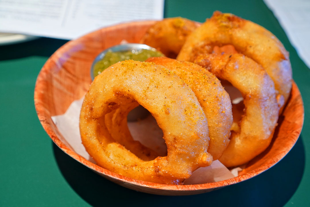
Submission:
[[[85,159],[95,163],[86,152],[80,137],[79,115],[83,99],[73,101],[63,115],[53,116],[51,118],[65,141],[69,143],[73,150]],[[128,123],[128,128],[132,137],[144,146],[150,147],[159,154],[167,150],[167,146],[162,139],[162,130],[158,127],[152,115],[149,115],[146,119]],[[210,166],[199,168],[193,172],[192,176],[184,181],[184,184],[203,184],[226,180],[236,177],[240,170],[242,169],[235,169],[233,174],[221,162],[215,160]]]

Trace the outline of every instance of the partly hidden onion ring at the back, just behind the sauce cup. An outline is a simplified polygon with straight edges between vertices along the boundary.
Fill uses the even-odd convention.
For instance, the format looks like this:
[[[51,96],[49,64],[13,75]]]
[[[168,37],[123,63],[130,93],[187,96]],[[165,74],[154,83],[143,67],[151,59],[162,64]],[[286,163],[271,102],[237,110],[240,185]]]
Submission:
[[[156,48],[167,57],[175,58],[187,36],[198,26],[198,23],[185,18],[166,18],[152,25],[141,43]]]

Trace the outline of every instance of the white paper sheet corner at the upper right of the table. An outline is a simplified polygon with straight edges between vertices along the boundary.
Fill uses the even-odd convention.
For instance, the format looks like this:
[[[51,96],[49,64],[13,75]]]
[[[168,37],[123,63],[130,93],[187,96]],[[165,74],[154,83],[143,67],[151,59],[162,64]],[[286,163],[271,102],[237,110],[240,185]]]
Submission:
[[[310,68],[310,1],[264,0],[277,17],[299,57]]]

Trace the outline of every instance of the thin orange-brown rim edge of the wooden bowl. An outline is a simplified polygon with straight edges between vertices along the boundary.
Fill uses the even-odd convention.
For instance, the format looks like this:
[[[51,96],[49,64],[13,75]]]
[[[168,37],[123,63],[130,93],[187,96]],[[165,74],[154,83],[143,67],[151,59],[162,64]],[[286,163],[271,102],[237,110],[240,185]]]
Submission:
[[[149,21],[143,21],[143,22],[130,22],[130,23],[124,23],[124,24],[120,24],[120,25],[115,25],[110,27],[111,29],[113,28],[117,28],[117,27],[126,27],[128,25],[131,24],[149,24],[152,25],[155,21],[153,20],[149,20]],[[103,28],[105,29],[105,28]],[[95,31],[96,32],[96,31]],[[86,34],[86,36],[91,36],[92,33],[90,34]],[[84,37],[84,36],[83,36]],[[82,38],[82,37],[81,37]],[[294,144],[297,142],[299,134],[301,132],[302,126],[303,126],[303,119],[304,119],[304,109],[303,109],[303,101],[301,98],[301,94],[299,92],[299,89],[296,85],[296,83],[293,81],[293,88],[292,88],[292,93],[291,93],[291,97],[288,100],[288,103],[290,103],[290,101],[292,101],[292,98],[294,96],[294,99],[297,99],[297,103],[295,107],[297,107],[297,109],[295,110],[299,110],[302,111],[301,116],[300,117],[296,117],[295,120],[291,120],[291,121],[295,121],[298,122],[298,126],[299,128],[295,129],[296,132],[296,136],[294,136],[294,142],[292,142],[289,146],[286,146],[285,151],[282,151],[281,153],[277,154],[277,157],[275,159],[275,157],[273,157],[273,159],[271,160],[271,162],[269,162],[268,164],[263,164],[261,166],[259,166],[258,168],[249,171],[248,173],[244,174],[244,175],[240,175],[234,178],[230,178],[228,180],[223,180],[223,181],[219,181],[219,182],[211,182],[211,183],[205,183],[205,184],[195,184],[195,185],[167,185],[167,184],[159,184],[159,183],[153,183],[153,182],[146,182],[146,181],[141,181],[141,180],[137,180],[137,179],[133,179],[133,178],[128,178],[126,176],[122,176],[119,175],[117,173],[113,173],[112,171],[109,171],[107,169],[104,169],[88,160],[86,160],[84,157],[78,155],[77,153],[75,153],[74,151],[72,151],[68,146],[66,146],[58,136],[61,136],[61,134],[58,132],[57,130],[57,134],[53,131],[51,125],[49,123],[52,124],[53,128],[57,129],[57,127],[55,126],[55,124],[53,123],[53,121],[51,120],[51,116],[49,115],[49,113],[47,113],[47,111],[45,110],[44,106],[43,106],[43,102],[44,100],[41,99],[41,95],[39,94],[40,92],[40,88],[42,88],[42,85],[44,85],[45,82],[42,81],[38,81],[39,79],[42,79],[43,74],[48,73],[49,68],[45,67],[49,61],[53,61],[54,58],[58,58],[56,56],[57,54],[63,54],[67,48],[70,48],[70,45],[73,44],[75,41],[79,41],[81,38],[78,38],[76,40],[72,40],[69,41],[68,43],[64,44],[62,47],[60,47],[45,63],[45,65],[43,66],[42,70],[40,71],[37,81],[36,81],[36,85],[35,85],[35,91],[34,91],[34,103],[35,103],[35,108],[38,114],[38,118],[43,126],[43,128],[45,129],[45,131],[47,132],[47,134],[51,137],[51,139],[53,140],[53,142],[62,150],[64,151],[66,154],[68,154],[69,156],[71,156],[73,159],[77,160],[78,162],[82,163],[83,165],[87,166],[90,169],[95,170],[96,172],[104,175],[104,176],[108,176],[110,178],[114,178],[120,182],[127,182],[127,183],[131,183],[133,185],[138,185],[141,187],[147,187],[147,188],[152,188],[152,189],[161,189],[161,190],[168,190],[168,191],[198,191],[198,190],[205,190],[205,189],[213,189],[213,188],[219,188],[219,187],[224,187],[224,186],[228,186],[228,185],[232,185],[238,182],[242,182],[245,181],[249,178],[255,177],[256,175],[266,171],[267,169],[271,168],[272,166],[274,166],[275,164],[277,164],[277,162],[279,162],[290,150],[291,148],[294,146]],[[47,83],[45,83],[47,84]],[[47,121],[48,120],[48,121]]]

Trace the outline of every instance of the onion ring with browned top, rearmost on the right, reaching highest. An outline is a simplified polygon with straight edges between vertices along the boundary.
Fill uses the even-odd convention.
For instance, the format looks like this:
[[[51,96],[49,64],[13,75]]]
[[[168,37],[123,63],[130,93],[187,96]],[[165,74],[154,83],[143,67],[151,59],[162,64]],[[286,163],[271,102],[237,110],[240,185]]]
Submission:
[[[233,14],[214,12],[210,19],[188,36],[177,59],[191,61],[199,48],[227,44],[262,65],[276,90],[287,101],[292,87],[289,53],[267,29]]]

